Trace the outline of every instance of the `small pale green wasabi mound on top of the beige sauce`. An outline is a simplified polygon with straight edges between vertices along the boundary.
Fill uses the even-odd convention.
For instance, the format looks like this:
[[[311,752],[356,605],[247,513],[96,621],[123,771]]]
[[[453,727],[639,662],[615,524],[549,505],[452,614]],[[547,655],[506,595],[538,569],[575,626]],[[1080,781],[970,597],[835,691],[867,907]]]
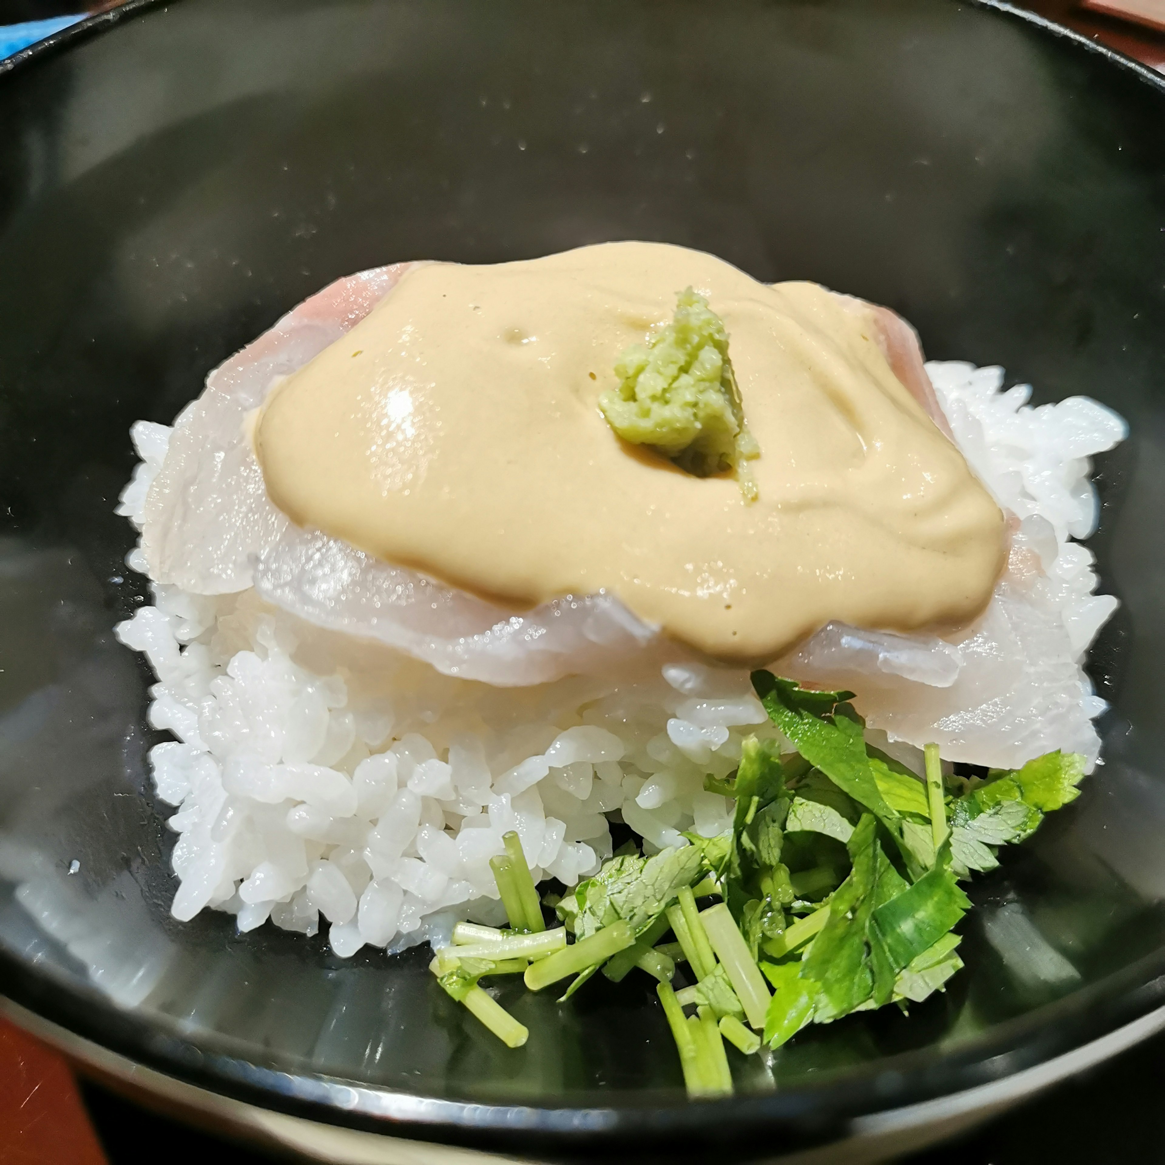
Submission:
[[[732,473],[748,501],[757,496],[747,461],[760,456],[728,358],[728,333],[691,288],[672,322],[615,361],[619,388],[599,397],[607,423],[634,445],[649,445],[682,469]]]

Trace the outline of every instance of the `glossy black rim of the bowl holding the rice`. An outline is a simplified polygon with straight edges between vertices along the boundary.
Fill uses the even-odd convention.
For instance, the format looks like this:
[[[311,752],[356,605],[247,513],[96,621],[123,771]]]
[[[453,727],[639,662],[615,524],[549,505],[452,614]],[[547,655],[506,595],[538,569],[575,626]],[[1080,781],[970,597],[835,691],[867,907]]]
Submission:
[[[13,84],[12,78],[27,75],[41,61],[91,36],[108,33],[122,21],[164,12],[177,2],[126,0],[118,8],[71,24],[0,61],[0,85]],[[1044,35],[1099,55],[1165,96],[1165,76],[1115,49],[1005,0],[969,2],[974,8],[1023,21]],[[15,1010],[6,1008],[3,997],[12,1001]],[[895,1114],[942,1099],[973,1097],[977,1089],[1082,1054],[1085,1048],[1110,1047],[1089,1061],[1100,1062],[1158,1030],[1149,1017],[1165,1017],[1163,1004],[1165,948],[1061,1000],[996,1024],[953,1053],[918,1048],[863,1065],[835,1080],[715,1101],[689,1102],[677,1090],[644,1093],[642,1100],[628,1104],[506,1104],[262,1068],[230,1054],[207,1052],[176,1033],[162,1031],[140,1012],[118,1008],[91,986],[79,990],[76,983],[56,983],[0,951],[0,1014],[8,1010],[20,1022],[19,1012],[27,1012],[77,1039],[184,1085],[310,1121],[390,1131],[421,1141],[451,1144],[472,1141],[474,1148],[488,1150],[513,1148],[522,1138],[537,1138],[551,1155],[586,1151],[612,1138],[658,1143],[661,1137],[691,1136],[712,1125],[729,1124],[744,1137],[771,1135],[781,1128],[788,1134],[783,1148],[825,1144],[853,1135],[855,1129],[871,1127],[871,1122],[892,1121]],[[1110,1039],[1124,1031],[1136,1033],[1135,1038],[1125,1044]],[[596,1101],[600,1095],[595,1094]],[[984,1099],[982,1103],[990,1101]]]

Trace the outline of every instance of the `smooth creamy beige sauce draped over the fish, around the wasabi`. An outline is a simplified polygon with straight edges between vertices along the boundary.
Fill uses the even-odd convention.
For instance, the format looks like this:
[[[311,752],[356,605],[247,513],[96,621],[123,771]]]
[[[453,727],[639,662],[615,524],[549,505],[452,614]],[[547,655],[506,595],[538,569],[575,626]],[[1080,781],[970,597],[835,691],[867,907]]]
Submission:
[[[730,336],[751,504],[622,443],[596,405],[689,284]],[[299,525],[515,608],[607,589],[726,662],[831,619],[958,626],[1003,567],[1003,516],[875,327],[816,284],[662,243],[419,266],[271,394],[255,450]]]

